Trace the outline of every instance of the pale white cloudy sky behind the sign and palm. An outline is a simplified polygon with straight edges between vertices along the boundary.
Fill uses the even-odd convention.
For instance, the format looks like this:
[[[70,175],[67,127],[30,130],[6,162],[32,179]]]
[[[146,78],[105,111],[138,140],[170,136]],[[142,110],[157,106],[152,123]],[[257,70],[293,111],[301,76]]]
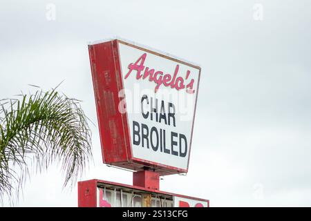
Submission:
[[[164,177],[162,191],[211,206],[311,206],[310,1],[0,3],[0,98],[65,80],[59,90],[96,124],[83,180],[132,182],[102,164],[87,50],[120,36],[202,66],[189,173]],[[16,205],[77,206],[77,186],[62,190],[59,171],[32,175]]]

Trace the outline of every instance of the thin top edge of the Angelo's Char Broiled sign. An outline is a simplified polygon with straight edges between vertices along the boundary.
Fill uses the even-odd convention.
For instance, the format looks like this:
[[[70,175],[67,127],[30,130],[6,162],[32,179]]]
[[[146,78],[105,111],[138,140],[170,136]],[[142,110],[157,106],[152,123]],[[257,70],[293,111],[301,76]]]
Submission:
[[[196,64],[196,63],[194,63],[194,62],[192,62],[192,61],[188,61],[187,59],[182,59],[182,58],[180,58],[180,57],[177,57],[177,56],[175,56],[175,55],[171,55],[171,54],[169,54],[169,53],[167,53],[167,52],[164,52],[164,51],[162,51],[162,50],[158,50],[158,49],[156,49],[156,48],[151,48],[151,47],[149,47],[149,46],[145,46],[145,45],[142,45],[142,44],[138,44],[138,43],[135,42],[135,41],[130,41],[130,40],[124,39],[124,38],[122,38],[122,37],[115,37],[115,38],[109,38],[109,39],[102,39],[102,40],[98,40],[98,41],[89,41],[89,42],[88,42],[88,46],[95,45],[95,44],[101,44],[101,43],[105,43],[105,42],[113,41],[113,40],[123,41],[123,42],[126,43],[126,44],[131,44],[131,45],[136,46],[136,47],[138,47],[138,48],[143,48],[143,49],[146,49],[146,50],[150,50],[150,51],[156,52],[156,53],[158,53],[158,54],[160,54],[160,55],[164,55],[165,57],[169,57],[169,58],[171,58],[171,59],[176,59],[177,61],[181,61],[181,62],[183,62],[183,63],[185,63],[185,64],[189,64],[189,65],[191,65],[191,66],[194,66],[194,68],[200,69],[200,67],[201,67],[200,64]],[[121,42],[121,43],[122,43],[122,42]]]

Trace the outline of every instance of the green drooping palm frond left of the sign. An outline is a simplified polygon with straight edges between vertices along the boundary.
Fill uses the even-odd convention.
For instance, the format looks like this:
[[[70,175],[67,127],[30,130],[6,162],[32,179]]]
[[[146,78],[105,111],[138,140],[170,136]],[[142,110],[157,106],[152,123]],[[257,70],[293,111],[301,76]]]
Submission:
[[[61,162],[64,186],[74,184],[91,160],[91,131],[77,99],[55,89],[0,101],[0,200],[12,196],[29,174]]]

